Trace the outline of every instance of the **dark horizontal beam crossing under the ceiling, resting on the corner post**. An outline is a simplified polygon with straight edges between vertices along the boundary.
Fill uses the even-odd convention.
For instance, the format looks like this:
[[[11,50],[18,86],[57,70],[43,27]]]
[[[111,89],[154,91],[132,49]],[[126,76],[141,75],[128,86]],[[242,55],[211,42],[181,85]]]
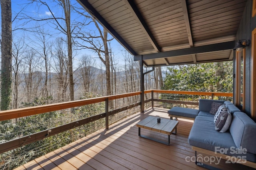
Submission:
[[[206,53],[206,52],[212,52],[212,51],[233,49],[234,45],[235,45],[235,41],[230,41],[230,42],[214,43],[209,45],[202,45],[202,46],[190,47],[190,48],[184,48],[184,49],[176,49],[176,50],[164,51],[164,52],[158,52],[158,53],[134,55],[134,61],[139,61],[142,56],[143,56],[143,60],[146,60],[146,59],[167,58],[167,57],[175,57],[180,55],[191,55],[191,54],[197,54],[197,53]]]

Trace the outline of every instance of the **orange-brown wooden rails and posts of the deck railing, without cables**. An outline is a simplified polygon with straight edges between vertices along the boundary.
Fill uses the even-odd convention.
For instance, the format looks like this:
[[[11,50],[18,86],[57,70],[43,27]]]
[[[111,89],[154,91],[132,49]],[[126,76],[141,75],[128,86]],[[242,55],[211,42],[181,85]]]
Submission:
[[[21,108],[21,109],[13,109],[13,110],[7,110],[7,111],[0,111],[0,121],[6,121],[10,119],[17,119],[21,117],[27,117],[31,115],[37,115],[42,113],[48,113],[52,111],[58,111],[62,109],[71,109],[74,107],[84,106],[84,105],[90,105],[94,103],[99,102],[105,102],[105,113],[101,113],[98,115],[94,115],[91,117],[87,117],[78,121],[74,121],[68,124],[64,124],[58,127],[53,127],[51,129],[42,130],[40,132],[30,134],[27,136],[22,136],[20,138],[16,138],[4,143],[0,144],[0,153],[6,152],[8,150],[12,150],[14,148],[18,148],[20,146],[23,146],[25,144],[29,144],[32,142],[36,142],[38,140],[41,140],[43,138],[52,136],[54,134],[58,134],[60,132],[64,132],[66,130],[70,130],[75,127],[79,127],[81,125],[85,125],[87,123],[96,121],[98,119],[105,118],[106,119],[106,128],[108,129],[108,116],[114,115],[116,113],[119,113],[121,111],[128,110],[130,108],[139,106],[141,102],[133,103],[131,105],[127,105],[122,108],[118,108],[112,111],[108,110],[108,102],[115,99],[121,99],[125,97],[131,97],[140,95],[142,92],[134,92],[134,93],[125,93],[121,95],[112,95],[112,96],[106,96],[106,97],[97,97],[93,99],[83,99],[78,101],[68,101],[63,103],[56,103],[56,104],[49,104],[49,105],[42,105],[42,106],[35,106],[35,107],[27,107],[27,108]],[[211,96],[212,98],[214,96],[226,96],[226,97],[232,97],[232,93],[215,93],[215,92],[195,92],[195,91],[166,91],[166,90],[147,90],[144,91],[145,94],[151,93],[151,99],[148,99],[146,102],[152,102],[152,107],[154,107],[154,101],[161,101],[161,102],[167,102],[167,103],[176,103],[175,100],[168,100],[168,99],[154,99],[154,93],[165,93],[165,94],[182,94],[182,95],[204,95],[204,96]],[[187,102],[192,105],[198,105],[197,102],[191,102],[191,101],[182,101]]]

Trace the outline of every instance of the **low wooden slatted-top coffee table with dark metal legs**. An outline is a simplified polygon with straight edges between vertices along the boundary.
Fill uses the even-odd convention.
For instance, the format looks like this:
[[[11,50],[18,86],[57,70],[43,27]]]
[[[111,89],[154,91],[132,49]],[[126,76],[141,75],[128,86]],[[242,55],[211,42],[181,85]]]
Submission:
[[[172,134],[174,129],[175,129],[175,133],[173,133],[173,134],[176,134],[177,125],[178,125],[179,122],[174,121],[174,120],[170,120],[170,119],[161,118],[160,123],[157,123],[157,118],[159,118],[159,117],[149,116],[146,119],[137,123],[136,126],[139,127],[139,136],[141,136],[143,138],[148,138],[148,139],[154,140],[156,142],[160,142],[160,143],[169,145],[170,144],[170,135]],[[157,140],[155,138],[151,138],[149,136],[141,135],[140,134],[140,128],[145,128],[145,129],[152,130],[152,131],[155,131],[155,132],[168,134],[168,143],[164,142],[162,140]]]

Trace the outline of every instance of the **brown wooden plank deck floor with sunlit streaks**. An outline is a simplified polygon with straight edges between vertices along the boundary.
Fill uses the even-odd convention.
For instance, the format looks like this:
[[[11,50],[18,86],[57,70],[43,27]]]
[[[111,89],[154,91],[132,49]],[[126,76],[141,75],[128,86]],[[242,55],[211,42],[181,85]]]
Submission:
[[[177,134],[170,136],[170,146],[167,146],[138,136],[136,123],[149,115],[169,119],[165,109],[154,108],[145,113],[137,113],[110,125],[108,130],[98,130],[16,169],[204,169],[192,161],[186,161],[194,156],[194,151],[188,144],[193,121],[179,119]],[[141,134],[168,141],[167,135],[150,130],[141,129]],[[226,164],[225,160],[212,166],[225,170],[250,169],[241,164]]]

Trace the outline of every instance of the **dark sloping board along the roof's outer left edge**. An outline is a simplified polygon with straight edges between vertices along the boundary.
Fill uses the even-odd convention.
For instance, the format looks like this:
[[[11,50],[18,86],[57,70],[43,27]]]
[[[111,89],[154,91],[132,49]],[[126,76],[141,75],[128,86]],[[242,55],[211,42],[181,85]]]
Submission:
[[[95,8],[88,2],[88,0],[77,0],[86,11],[95,17],[95,19],[106,29],[108,32],[116,38],[116,40],[121,43],[132,55],[137,55],[137,53],[124,41],[124,39],[108,24],[108,22],[96,11]]]

